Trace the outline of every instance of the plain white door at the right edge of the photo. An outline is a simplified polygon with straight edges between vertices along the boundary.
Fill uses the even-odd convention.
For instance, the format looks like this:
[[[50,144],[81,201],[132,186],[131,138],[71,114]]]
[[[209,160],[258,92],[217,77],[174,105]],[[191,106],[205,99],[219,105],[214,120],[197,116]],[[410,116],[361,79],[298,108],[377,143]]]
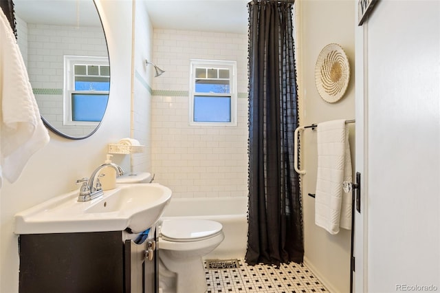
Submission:
[[[440,290],[440,1],[380,0],[355,36],[355,292]]]

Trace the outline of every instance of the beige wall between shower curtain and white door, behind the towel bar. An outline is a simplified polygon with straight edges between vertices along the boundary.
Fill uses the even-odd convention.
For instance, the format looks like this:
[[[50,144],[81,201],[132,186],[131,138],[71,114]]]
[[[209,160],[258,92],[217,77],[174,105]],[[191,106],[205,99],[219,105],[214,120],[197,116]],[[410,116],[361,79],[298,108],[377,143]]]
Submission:
[[[301,0],[296,2],[298,21],[298,76],[301,100],[300,125],[355,116],[354,87],[354,3],[349,0]],[[350,65],[351,81],[344,97],[330,104],[320,98],[315,85],[315,64],[329,43],[344,48]],[[354,158],[354,126],[350,127],[351,155]],[[301,138],[305,262],[332,292],[349,292],[350,231],[330,235],[314,224],[315,199],[307,193],[316,189],[316,131],[306,129]],[[352,160],[354,162],[354,160]],[[354,170],[354,169],[353,169]]]

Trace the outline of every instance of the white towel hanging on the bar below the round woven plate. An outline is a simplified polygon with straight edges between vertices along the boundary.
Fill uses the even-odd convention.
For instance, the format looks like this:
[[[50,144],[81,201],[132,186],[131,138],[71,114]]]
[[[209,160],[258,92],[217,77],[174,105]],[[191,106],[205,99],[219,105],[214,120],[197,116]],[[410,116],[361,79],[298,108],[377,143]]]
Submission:
[[[318,175],[315,224],[331,234],[351,229],[351,193],[342,182],[352,181],[349,132],[345,120],[318,124]]]

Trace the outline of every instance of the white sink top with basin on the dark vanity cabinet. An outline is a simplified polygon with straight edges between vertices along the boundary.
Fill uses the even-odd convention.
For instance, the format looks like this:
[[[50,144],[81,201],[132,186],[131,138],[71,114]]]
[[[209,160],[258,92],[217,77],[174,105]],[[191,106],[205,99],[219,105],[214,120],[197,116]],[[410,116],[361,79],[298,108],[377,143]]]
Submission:
[[[16,234],[142,232],[155,224],[171,199],[157,183],[118,184],[102,197],[78,202],[78,191],[54,197],[15,215]]]

